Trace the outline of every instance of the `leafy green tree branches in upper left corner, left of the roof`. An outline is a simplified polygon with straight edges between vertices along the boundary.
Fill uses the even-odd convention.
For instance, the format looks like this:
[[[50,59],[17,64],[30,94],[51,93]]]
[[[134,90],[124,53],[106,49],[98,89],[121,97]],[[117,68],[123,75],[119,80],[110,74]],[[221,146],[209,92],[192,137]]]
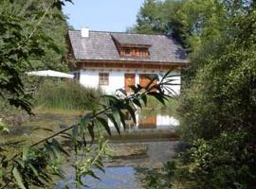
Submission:
[[[1,2],[0,97],[29,113],[31,95],[22,76],[30,70],[49,68],[46,62],[60,65],[65,25],[61,4],[60,0]]]

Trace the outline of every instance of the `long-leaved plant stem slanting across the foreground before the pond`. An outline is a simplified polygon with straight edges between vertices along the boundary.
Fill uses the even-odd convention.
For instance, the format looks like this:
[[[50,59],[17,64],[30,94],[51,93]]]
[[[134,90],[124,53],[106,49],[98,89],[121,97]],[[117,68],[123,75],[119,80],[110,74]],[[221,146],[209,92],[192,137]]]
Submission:
[[[156,100],[165,104],[165,101],[172,97],[164,93],[173,80],[169,74],[170,72],[166,73],[158,84],[149,85],[145,88],[140,85],[132,87],[134,94],[131,95],[127,95],[123,90],[119,90],[121,95],[103,95],[100,101],[101,106],[82,115],[79,123],[58,132],[47,129],[53,134],[31,146],[27,146],[11,157],[2,152],[10,150],[8,144],[3,144],[2,146],[6,146],[6,148],[1,149],[0,153],[0,187],[28,188],[37,186],[45,188],[52,181],[50,176],[64,177],[58,166],[60,161],[56,163],[56,160],[59,160],[62,156],[70,160],[76,173],[75,180],[66,183],[66,187],[73,187],[74,184],[76,187],[86,186],[86,183],[82,181],[82,177],[86,175],[100,179],[94,174],[91,167],[96,166],[96,168],[103,171],[102,161],[109,151],[105,140],[102,138],[103,131],[105,130],[111,135],[108,120],[115,125],[120,133],[119,128],[121,126],[125,129],[124,112],[128,112],[136,122],[136,106],[142,107],[142,105],[145,105],[148,96],[155,97]],[[95,139],[98,139],[96,150],[92,146]],[[61,141],[68,144],[68,151]],[[16,144],[18,143],[21,142]],[[74,158],[72,159],[72,157]]]

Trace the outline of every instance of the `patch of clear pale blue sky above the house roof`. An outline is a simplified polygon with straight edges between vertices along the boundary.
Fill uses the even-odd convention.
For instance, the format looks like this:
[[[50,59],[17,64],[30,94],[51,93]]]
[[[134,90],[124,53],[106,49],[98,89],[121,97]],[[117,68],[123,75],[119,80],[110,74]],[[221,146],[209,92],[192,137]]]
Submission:
[[[88,26],[90,30],[125,31],[136,24],[137,12],[144,0],[73,0],[64,14],[75,29]]]

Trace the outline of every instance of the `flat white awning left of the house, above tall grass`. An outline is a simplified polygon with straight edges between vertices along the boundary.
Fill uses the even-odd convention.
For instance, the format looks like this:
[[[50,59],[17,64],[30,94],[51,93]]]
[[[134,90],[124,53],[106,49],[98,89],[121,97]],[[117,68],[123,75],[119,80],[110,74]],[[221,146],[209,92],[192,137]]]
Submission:
[[[64,72],[57,72],[53,70],[42,70],[42,71],[33,71],[27,72],[28,76],[38,76],[38,77],[65,77],[65,78],[73,78],[74,75],[66,74]]]

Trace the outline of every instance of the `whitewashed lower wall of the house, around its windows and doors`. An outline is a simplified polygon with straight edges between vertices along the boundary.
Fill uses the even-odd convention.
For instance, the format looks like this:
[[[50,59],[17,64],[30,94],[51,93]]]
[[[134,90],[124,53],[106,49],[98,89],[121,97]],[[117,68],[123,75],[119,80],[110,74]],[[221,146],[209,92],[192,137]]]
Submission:
[[[100,85],[100,73],[108,73],[108,85]],[[161,78],[165,72],[155,72],[155,71],[147,71],[147,70],[115,70],[115,69],[82,69],[76,72],[72,72],[77,76],[80,83],[84,87],[101,89],[106,94],[115,94],[116,90],[124,89],[125,86],[125,74],[136,74],[136,84],[139,84],[139,75],[142,74],[157,74],[159,78]],[[180,84],[180,71],[176,70],[171,73],[171,75],[179,75],[173,77],[174,84]],[[171,87],[175,94],[180,93],[180,85],[174,85]]]

